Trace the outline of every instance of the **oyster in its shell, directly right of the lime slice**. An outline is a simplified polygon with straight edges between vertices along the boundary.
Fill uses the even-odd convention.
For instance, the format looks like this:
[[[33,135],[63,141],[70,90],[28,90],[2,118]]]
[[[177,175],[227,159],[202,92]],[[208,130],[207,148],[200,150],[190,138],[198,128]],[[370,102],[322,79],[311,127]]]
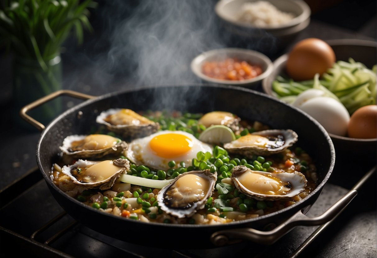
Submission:
[[[224,149],[229,153],[251,158],[255,155],[272,155],[279,153],[292,146],[297,141],[297,134],[291,129],[288,130],[265,130],[253,132],[241,136],[237,140],[224,144]]]

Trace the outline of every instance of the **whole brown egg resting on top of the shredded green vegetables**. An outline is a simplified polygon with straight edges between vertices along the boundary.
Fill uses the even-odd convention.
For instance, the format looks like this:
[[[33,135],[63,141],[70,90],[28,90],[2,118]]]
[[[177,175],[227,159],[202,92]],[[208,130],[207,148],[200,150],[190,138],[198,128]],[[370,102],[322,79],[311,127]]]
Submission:
[[[286,71],[293,80],[310,80],[331,68],[336,61],[334,50],[322,39],[307,38],[294,45],[288,54]]]

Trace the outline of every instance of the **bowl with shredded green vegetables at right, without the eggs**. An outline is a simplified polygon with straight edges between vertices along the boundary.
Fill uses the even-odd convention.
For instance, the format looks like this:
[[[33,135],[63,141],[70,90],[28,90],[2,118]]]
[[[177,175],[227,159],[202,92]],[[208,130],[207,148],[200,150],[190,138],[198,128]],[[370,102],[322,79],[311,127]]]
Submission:
[[[318,93],[317,96],[336,99],[336,103],[339,103],[344,110],[348,111],[349,117],[363,106],[376,105],[377,43],[360,39],[334,39],[326,42],[336,55],[336,62],[334,62],[333,67],[323,74],[316,74],[311,80],[295,81],[285,71],[288,54],[284,54],[273,62],[274,71],[262,80],[264,92],[302,109],[302,106],[298,105],[300,101],[297,100],[301,98],[301,103],[309,103],[309,99],[312,98],[313,100],[316,97],[314,95],[322,91],[322,94]],[[314,95],[306,94],[307,96],[305,96],[305,93],[309,92],[313,92]],[[302,96],[305,96],[305,99],[302,99]],[[335,108],[326,111],[324,105],[325,103],[318,102],[317,106],[312,105],[310,107],[315,109],[311,113],[317,112],[319,119],[323,119],[323,121],[326,120],[329,113],[336,115],[338,112]],[[304,111],[309,113],[307,110]],[[328,131],[337,154],[370,156],[375,159],[376,138],[351,138],[348,137],[347,133],[336,134],[331,131],[340,126],[335,120],[333,118],[328,119],[328,124],[319,122]],[[347,132],[347,129],[345,130]]]

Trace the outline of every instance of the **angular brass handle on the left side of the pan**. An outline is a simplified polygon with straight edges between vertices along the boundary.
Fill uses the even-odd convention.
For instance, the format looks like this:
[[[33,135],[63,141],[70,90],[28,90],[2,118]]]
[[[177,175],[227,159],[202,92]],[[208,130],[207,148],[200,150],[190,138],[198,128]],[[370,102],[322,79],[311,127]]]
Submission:
[[[29,110],[31,109],[34,109],[52,99],[55,99],[56,97],[58,96],[61,96],[61,95],[67,95],[67,96],[71,96],[71,97],[75,97],[75,98],[78,98],[78,99],[84,99],[84,100],[87,100],[87,99],[94,99],[96,98],[96,96],[92,96],[92,95],[87,95],[87,94],[84,94],[84,93],[79,93],[77,91],[71,91],[71,90],[60,90],[60,91],[55,91],[45,97],[41,97],[40,99],[37,99],[35,100],[34,102],[24,106],[23,108],[21,108],[20,110],[20,116],[26,120],[28,123],[32,124],[33,126],[37,127],[37,129],[39,131],[43,131],[43,129],[45,128],[45,126],[38,122],[37,120],[35,120],[34,118],[32,118],[31,116],[29,116],[28,114],[26,114]]]

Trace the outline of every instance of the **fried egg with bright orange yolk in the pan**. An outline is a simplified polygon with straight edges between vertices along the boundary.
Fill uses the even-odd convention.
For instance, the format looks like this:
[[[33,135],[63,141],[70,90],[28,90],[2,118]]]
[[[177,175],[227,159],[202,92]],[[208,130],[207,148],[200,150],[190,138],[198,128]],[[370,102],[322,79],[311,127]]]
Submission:
[[[212,147],[183,131],[159,131],[128,144],[127,158],[136,165],[169,169],[169,161],[184,161],[191,165],[198,152],[212,153]]]

